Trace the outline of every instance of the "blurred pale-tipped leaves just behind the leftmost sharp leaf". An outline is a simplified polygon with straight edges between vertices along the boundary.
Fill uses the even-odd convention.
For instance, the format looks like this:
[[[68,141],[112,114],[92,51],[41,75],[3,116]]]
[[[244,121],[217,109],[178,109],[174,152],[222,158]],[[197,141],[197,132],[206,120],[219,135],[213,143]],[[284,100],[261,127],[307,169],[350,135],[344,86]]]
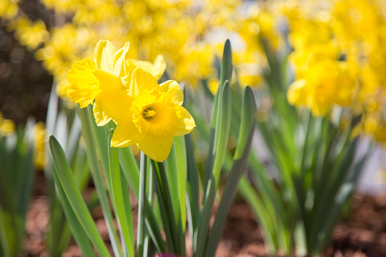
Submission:
[[[59,142],[64,147],[67,160],[73,176],[81,193],[84,192],[90,181],[90,169],[86,158],[85,145],[80,144],[80,121],[73,108],[68,108],[67,104],[60,101],[52,86],[51,95],[48,102],[46,118],[46,136],[48,134],[58,137]],[[59,107],[59,108],[58,108]],[[45,146],[47,156],[49,156],[48,141]],[[50,256],[59,257],[67,249],[71,240],[71,223],[66,219],[65,204],[59,200],[61,191],[55,186],[55,171],[51,159],[44,166],[44,175],[47,181],[47,192],[50,198],[50,219],[46,233],[46,247]],[[94,208],[98,203],[98,198],[88,202],[89,208]],[[76,225],[75,225],[76,226]]]

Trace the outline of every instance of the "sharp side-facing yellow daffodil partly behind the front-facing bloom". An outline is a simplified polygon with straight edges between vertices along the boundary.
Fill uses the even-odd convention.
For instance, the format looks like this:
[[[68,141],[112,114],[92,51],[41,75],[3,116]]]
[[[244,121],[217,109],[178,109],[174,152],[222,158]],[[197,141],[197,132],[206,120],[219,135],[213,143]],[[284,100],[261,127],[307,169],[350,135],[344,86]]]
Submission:
[[[79,103],[81,108],[94,105],[93,113],[98,126],[106,125],[112,120],[105,109],[112,108],[108,105],[119,107],[120,102],[116,98],[126,95],[129,90],[134,61],[126,61],[128,51],[129,42],[116,50],[110,41],[100,40],[94,50],[94,60],[78,61],[68,71],[67,95]],[[161,76],[166,68],[163,57],[158,57],[154,64],[139,62],[139,65],[156,76]]]

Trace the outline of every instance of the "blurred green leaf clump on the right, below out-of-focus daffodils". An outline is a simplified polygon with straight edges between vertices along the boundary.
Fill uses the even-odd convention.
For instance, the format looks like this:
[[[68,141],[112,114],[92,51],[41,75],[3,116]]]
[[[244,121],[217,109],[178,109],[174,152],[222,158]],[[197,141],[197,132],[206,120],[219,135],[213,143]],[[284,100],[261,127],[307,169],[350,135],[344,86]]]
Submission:
[[[267,90],[259,97],[271,98],[273,106],[257,127],[269,159],[264,164],[252,150],[248,163],[256,191],[244,180],[240,193],[258,218],[271,252],[318,255],[327,247],[371,150],[354,161],[358,138],[351,132],[358,118],[341,128],[341,112],[332,121],[290,106],[286,59],[278,60],[267,46],[266,51],[271,71],[266,74]],[[278,176],[269,178],[272,171]]]

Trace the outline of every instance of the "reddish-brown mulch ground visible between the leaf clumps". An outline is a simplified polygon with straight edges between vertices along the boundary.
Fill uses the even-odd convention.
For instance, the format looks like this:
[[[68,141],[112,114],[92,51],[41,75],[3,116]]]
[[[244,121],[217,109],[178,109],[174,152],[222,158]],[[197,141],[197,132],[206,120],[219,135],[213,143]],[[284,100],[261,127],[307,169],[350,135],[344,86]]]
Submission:
[[[44,248],[44,231],[49,219],[49,201],[44,196],[44,177],[36,181],[35,196],[32,199],[26,220],[27,236],[24,242],[25,256],[48,256]],[[134,202],[134,203],[133,203]],[[132,201],[135,205],[135,201]],[[133,220],[137,222],[136,206],[133,206]],[[386,196],[356,195],[351,205],[352,215],[340,221],[334,230],[327,257],[381,257],[386,256]],[[96,208],[92,213],[102,238],[108,241],[108,234],[102,211]],[[134,224],[134,227],[136,224]],[[189,247],[189,243],[187,243]],[[81,256],[74,242],[70,243],[65,257]],[[232,205],[216,257],[267,256],[258,225],[244,203]]]

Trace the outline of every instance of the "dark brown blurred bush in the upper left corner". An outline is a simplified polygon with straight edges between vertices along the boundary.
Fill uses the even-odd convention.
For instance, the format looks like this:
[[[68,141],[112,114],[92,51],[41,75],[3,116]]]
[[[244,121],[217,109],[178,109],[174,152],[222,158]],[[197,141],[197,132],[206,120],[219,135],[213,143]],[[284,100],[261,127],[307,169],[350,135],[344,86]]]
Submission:
[[[52,76],[42,69],[41,61],[30,52],[32,49],[16,39],[18,33],[7,28],[7,18],[23,12],[30,20],[41,19],[49,24],[53,13],[39,1],[10,7],[12,3],[6,0],[0,4],[0,112],[16,124],[25,123],[31,115],[37,121],[45,121]]]

